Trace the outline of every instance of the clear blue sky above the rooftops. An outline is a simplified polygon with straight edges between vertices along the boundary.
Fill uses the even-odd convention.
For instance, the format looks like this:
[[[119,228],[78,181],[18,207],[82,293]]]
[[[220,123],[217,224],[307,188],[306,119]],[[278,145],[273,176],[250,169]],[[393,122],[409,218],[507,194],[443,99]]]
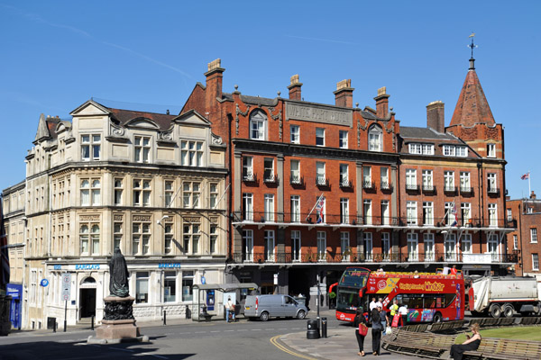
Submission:
[[[287,97],[299,74],[305,100],[334,103],[336,82],[351,78],[361,107],[387,86],[402,125],[426,126],[435,100],[447,125],[474,31],[477,74],[505,127],[509,194],[527,195],[529,170],[541,195],[540,15],[539,1],[0,0],[0,189],[24,179],[41,112],[69,118],[92,96],[178,112],[215,58],[225,92]]]

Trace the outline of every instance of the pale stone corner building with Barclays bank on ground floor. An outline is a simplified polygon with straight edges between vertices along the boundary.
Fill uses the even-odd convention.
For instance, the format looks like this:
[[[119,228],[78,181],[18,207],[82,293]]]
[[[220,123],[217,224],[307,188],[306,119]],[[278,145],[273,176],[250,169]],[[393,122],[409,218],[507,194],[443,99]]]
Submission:
[[[222,139],[197,112],[135,112],[90,100],[71,116],[41,115],[26,157],[23,328],[51,317],[62,327],[65,306],[68,325],[101,320],[115,247],[127,260],[136,319],[163,311],[185,317],[197,305],[194,284],[224,279]]]

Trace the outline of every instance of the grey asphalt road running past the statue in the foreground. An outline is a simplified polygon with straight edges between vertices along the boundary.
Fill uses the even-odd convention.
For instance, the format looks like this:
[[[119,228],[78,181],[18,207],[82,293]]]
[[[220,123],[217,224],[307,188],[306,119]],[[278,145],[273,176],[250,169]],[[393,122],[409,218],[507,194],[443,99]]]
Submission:
[[[329,320],[329,327],[341,326]],[[307,320],[190,323],[142,328],[150,343],[87,345],[93,331],[18,333],[0,338],[0,359],[298,359],[271,338],[306,331]]]

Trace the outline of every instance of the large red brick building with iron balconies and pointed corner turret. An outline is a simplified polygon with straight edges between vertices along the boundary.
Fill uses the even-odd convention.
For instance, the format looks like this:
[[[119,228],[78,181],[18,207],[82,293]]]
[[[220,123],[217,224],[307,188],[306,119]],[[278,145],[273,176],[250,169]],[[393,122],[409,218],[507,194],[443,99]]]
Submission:
[[[375,110],[353,106],[351,80],[335,104],[222,90],[225,69],[208,64],[182,112],[206,114],[227,145],[227,282],[262,292],[307,293],[320,275],[332,284],[346,266],[435,270],[456,264],[500,273],[512,264],[504,237],[503,128],[473,67],[450,126],[444,104],[427,106],[426,128],[400,126],[390,95]],[[235,86],[236,87],[236,86]]]

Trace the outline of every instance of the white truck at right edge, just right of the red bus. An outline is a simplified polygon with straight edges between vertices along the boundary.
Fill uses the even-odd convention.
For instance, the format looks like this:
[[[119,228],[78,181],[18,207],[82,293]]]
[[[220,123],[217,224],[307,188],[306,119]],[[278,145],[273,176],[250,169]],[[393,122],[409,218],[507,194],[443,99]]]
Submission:
[[[500,318],[503,315],[511,318],[515,311],[521,315],[541,315],[535,277],[481,277],[472,280],[467,293],[472,316]]]

